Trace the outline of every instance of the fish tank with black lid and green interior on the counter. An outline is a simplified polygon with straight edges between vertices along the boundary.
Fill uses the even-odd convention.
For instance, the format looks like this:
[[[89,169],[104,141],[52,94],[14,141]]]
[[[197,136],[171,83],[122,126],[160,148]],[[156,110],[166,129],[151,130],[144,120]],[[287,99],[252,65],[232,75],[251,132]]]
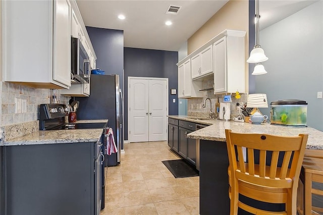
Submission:
[[[274,125],[304,127],[306,119],[306,101],[286,99],[271,102],[271,123]]]

